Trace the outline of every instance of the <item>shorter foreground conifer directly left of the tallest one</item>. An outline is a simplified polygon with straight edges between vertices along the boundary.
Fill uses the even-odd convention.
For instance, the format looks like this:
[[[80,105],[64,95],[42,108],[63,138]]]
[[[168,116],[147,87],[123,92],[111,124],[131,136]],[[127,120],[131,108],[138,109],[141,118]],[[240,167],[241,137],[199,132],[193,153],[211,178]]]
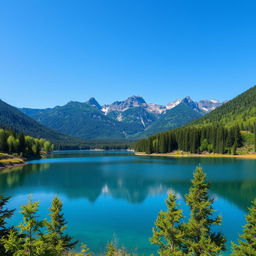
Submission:
[[[161,256],[185,255],[184,250],[184,230],[180,224],[183,218],[182,210],[176,207],[176,197],[170,192],[166,200],[167,211],[161,211],[153,228],[153,236],[150,239],[152,244],[160,246],[158,254]]]

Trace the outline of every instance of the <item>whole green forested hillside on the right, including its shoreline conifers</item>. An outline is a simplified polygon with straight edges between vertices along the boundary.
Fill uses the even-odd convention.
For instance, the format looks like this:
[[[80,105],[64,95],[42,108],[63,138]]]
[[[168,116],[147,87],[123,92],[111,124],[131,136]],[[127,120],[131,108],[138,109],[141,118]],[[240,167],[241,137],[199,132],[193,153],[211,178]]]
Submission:
[[[146,153],[181,150],[191,153],[236,154],[237,149],[246,147],[248,141],[253,144],[251,151],[256,150],[255,134],[256,87],[252,87],[197,121],[141,140],[134,148]]]

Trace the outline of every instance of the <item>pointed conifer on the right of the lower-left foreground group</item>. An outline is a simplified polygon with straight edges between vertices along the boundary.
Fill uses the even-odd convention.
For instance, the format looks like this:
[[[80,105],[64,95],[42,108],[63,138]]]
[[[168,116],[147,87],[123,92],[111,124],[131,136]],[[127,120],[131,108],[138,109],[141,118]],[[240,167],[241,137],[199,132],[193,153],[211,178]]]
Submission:
[[[62,256],[77,244],[77,241],[72,241],[72,237],[64,233],[67,223],[62,213],[62,207],[62,202],[55,197],[50,208],[50,222],[46,223],[47,234],[44,238],[49,244],[48,254],[53,256]]]

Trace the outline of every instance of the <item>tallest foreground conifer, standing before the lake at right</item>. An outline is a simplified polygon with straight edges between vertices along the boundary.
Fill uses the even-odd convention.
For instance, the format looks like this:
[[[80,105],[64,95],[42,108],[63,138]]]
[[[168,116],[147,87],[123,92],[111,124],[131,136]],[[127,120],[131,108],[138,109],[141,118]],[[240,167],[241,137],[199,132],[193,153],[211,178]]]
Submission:
[[[225,238],[212,231],[213,225],[220,225],[220,216],[214,217],[213,199],[208,195],[209,183],[202,168],[194,172],[192,187],[186,196],[190,207],[190,219],[186,225],[186,245],[189,255],[219,255],[225,248]]]

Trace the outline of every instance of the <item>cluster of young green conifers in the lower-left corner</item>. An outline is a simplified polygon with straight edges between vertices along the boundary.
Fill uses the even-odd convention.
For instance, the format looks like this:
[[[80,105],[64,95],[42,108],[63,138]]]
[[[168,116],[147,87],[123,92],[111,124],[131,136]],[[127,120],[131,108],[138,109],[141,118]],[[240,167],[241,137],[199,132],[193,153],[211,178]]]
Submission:
[[[8,198],[3,199],[4,206]],[[1,206],[1,204],[0,204]],[[32,198],[26,205],[21,206],[23,216],[22,223],[14,228],[5,228],[5,219],[12,215],[12,211],[3,211],[3,238],[0,249],[4,248],[1,255],[10,256],[64,256],[74,248],[76,242],[72,237],[64,234],[66,222],[62,213],[62,203],[55,197],[50,208],[50,221],[40,220],[38,216],[39,202],[33,202]],[[1,208],[0,208],[1,210]],[[82,246],[81,255],[87,255],[88,249]]]

